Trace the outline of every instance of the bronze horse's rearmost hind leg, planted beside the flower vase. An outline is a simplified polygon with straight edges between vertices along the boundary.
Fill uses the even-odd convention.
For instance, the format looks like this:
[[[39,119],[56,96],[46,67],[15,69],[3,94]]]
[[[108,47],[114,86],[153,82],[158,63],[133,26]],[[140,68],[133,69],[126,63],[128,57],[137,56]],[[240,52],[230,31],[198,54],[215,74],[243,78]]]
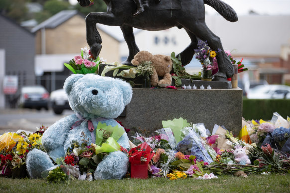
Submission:
[[[205,22],[195,22],[194,24],[191,23],[184,27],[190,30],[201,40],[207,41],[212,50],[218,51],[221,49],[221,52],[218,52],[216,56],[218,62],[218,72],[214,75],[213,80],[225,81],[227,78],[232,77],[234,75],[233,64],[224,52],[220,38],[210,31]]]

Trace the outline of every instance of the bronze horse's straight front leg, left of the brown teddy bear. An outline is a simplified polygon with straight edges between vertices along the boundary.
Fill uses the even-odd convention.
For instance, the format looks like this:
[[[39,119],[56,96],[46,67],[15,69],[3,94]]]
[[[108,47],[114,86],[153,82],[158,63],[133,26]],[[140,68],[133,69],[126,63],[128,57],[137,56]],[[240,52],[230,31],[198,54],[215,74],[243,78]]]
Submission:
[[[125,41],[128,45],[128,48],[129,48],[129,56],[128,56],[127,60],[122,62],[122,64],[133,66],[131,61],[134,58],[135,54],[137,54],[137,52],[140,51],[136,42],[135,42],[133,28],[131,26],[128,26],[128,25],[122,25],[120,27],[121,27],[121,30],[123,32],[124,39],[125,39]]]

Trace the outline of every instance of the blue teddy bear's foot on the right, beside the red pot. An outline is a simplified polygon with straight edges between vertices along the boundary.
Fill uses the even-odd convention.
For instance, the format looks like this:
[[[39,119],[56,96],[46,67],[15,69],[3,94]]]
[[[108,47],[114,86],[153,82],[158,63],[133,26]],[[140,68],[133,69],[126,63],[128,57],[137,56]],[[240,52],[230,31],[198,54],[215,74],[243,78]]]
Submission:
[[[121,151],[115,151],[107,155],[97,166],[94,178],[97,179],[121,179],[128,169],[128,157]]]

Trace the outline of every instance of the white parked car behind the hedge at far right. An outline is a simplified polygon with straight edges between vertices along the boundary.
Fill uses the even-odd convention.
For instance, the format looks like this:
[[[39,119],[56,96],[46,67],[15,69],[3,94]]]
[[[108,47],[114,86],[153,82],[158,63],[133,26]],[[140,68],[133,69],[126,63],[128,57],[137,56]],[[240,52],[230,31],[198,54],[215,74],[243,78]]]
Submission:
[[[259,85],[249,90],[248,99],[290,99],[290,86]]]

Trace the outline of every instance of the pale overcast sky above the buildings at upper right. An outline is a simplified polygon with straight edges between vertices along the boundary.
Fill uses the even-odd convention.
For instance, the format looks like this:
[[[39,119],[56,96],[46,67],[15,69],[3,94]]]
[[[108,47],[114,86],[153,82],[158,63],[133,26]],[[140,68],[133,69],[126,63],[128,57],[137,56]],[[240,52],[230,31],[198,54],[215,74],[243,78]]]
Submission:
[[[71,3],[77,3],[77,0],[69,0]],[[250,10],[262,15],[289,15],[290,0],[222,0],[235,9],[238,15],[246,15]],[[94,5],[93,5],[94,6]],[[206,6],[209,14],[217,12],[209,6]]]

